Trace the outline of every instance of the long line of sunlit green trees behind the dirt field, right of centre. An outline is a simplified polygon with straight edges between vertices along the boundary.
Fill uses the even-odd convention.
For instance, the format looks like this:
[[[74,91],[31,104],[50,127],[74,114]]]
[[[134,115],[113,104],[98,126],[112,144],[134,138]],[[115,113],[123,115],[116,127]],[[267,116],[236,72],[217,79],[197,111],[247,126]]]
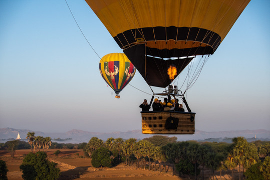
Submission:
[[[226,171],[226,173],[231,173],[233,178],[234,168],[237,166],[239,179],[243,178],[241,174],[244,174],[245,179],[254,179],[256,173],[261,174],[261,179],[270,177],[269,142],[248,143],[244,137],[234,137],[232,143],[177,142],[176,139],[176,137],[154,135],[139,141],[135,138],[124,140],[110,137],[104,142],[98,137],[92,137],[84,151],[92,157],[92,161],[93,158],[95,159],[95,164],[98,166],[104,165],[96,162],[96,156],[93,156],[95,154],[98,155],[98,158],[108,157],[111,164],[124,161],[127,165],[136,163],[138,167],[159,171],[168,171],[166,163],[171,163],[173,175],[178,172],[180,176],[188,175],[189,178],[194,175],[195,179],[200,171],[202,171],[202,179],[204,179],[205,168],[211,169],[213,176],[214,171],[219,171],[221,178],[221,172]],[[104,148],[108,149],[111,155],[108,155],[108,150]],[[97,150],[104,155],[95,153]],[[254,168],[254,166],[258,167]],[[252,169],[258,170],[253,172]]]

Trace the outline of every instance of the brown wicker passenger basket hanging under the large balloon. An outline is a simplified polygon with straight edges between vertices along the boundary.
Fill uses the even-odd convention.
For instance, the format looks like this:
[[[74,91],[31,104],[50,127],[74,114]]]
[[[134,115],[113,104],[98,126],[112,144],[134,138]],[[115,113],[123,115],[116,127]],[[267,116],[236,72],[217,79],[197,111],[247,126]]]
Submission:
[[[194,134],[195,112],[142,111],[141,113],[142,133]],[[168,123],[174,123],[174,126],[168,127]]]

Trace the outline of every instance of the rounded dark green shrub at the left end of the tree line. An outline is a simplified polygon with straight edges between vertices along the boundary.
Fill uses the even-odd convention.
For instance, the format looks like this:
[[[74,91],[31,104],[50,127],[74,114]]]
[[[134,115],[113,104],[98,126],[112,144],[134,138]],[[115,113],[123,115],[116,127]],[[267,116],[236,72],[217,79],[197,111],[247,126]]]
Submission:
[[[96,149],[92,154],[91,163],[94,167],[102,167],[102,166],[112,167],[113,161],[114,156],[112,152],[105,147],[100,147]]]

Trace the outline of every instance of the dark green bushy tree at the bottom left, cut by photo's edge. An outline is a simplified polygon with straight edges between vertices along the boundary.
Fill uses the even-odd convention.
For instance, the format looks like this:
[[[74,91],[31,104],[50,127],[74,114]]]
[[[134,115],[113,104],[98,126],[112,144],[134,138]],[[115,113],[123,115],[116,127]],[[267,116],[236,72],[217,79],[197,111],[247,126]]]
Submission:
[[[57,163],[50,162],[47,159],[46,152],[39,151],[36,153],[29,152],[20,165],[20,169],[23,170],[22,177],[25,180],[54,180],[60,176],[60,168],[56,166]]]

